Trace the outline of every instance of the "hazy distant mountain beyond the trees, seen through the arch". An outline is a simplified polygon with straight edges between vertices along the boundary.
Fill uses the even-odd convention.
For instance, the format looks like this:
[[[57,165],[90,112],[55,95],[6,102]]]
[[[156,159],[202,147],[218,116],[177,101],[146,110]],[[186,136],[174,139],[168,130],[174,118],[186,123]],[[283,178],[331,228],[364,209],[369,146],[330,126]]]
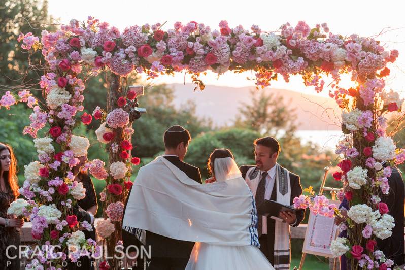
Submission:
[[[214,124],[219,126],[232,124],[232,120],[239,113],[241,103],[249,103],[250,90],[254,89],[254,87],[206,85],[204,91],[193,91],[194,84],[169,84],[168,86],[175,90],[174,103],[177,107],[193,100],[197,115],[210,117]],[[258,90],[258,94],[259,91],[283,95],[288,107],[296,108],[299,130],[340,130],[341,110],[332,98],[284,89],[265,88]]]

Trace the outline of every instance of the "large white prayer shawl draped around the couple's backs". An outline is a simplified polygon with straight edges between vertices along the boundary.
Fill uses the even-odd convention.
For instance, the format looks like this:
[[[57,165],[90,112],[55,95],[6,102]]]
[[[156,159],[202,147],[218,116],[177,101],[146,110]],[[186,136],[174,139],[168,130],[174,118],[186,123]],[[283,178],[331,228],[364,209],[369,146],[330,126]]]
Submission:
[[[145,243],[165,237],[230,246],[259,246],[256,206],[240,176],[201,185],[163,157],[143,166],[133,183],[123,229]]]

